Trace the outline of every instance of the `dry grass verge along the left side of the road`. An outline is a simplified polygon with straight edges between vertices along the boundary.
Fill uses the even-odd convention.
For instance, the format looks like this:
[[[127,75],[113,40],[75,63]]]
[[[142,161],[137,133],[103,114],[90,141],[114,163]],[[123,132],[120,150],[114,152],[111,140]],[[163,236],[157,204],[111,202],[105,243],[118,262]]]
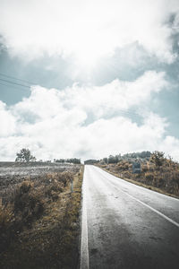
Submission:
[[[81,168],[73,176],[73,192],[71,192],[70,181],[61,186],[53,175],[48,176],[49,181],[54,180],[55,185],[46,184],[44,187],[43,193],[46,192],[46,199],[39,200],[39,197],[36,196],[38,204],[39,201],[43,204],[43,211],[40,214],[38,213],[38,217],[30,222],[30,226],[24,225],[23,229],[18,228],[13,232],[11,230],[11,240],[0,254],[0,268],[77,268],[79,262],[79,214],[82,177],[83,169]],[[29,191],[28,186],[27,184],[25,187],[27,193]],[[37,195],[33,187],[31,187],[32,192],[30,193],[32,196],[33,192],[34,195]],[[59,188],[58,191],[56,191],[56,187]],[[30,195],[28,198],[30,198]],[[23,196],[22,202],[27,198],[26,196]],[[21,203],[19,207],[21,207]],[[5,208],[7,216],[13,221],[14,215],[11,215],[11,205],[9,204]],[[34,211],[36,213],[35,207]],[[0,216],[0,228],[2,223],[6,225],[11,221],[4,217],[2,222]],[[6,228],[8,228],[8,225]]]

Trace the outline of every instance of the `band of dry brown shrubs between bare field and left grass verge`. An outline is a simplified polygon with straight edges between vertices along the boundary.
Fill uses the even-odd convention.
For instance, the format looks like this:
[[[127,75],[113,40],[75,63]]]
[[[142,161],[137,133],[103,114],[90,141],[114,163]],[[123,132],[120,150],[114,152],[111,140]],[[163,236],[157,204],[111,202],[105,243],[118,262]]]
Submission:
[[[72,172],[10,178],[8,188],[4,188],[0,198],[0,252],[6,251],[11,243],[18,242],[21,232],[31,229],[45,209],[48,212],[50,203],[58,199],[73,175],[74,169]]]

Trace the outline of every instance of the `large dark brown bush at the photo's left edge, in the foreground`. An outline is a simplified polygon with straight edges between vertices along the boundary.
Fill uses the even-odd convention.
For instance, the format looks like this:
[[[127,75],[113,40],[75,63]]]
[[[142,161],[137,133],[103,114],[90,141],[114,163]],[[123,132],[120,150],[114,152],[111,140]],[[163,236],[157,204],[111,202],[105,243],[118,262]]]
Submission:
[[[42,195],[24,181],[13,190],[8,204],[0,204],[0,250],[4,251],[25,227],[31,227],[44,212]]]

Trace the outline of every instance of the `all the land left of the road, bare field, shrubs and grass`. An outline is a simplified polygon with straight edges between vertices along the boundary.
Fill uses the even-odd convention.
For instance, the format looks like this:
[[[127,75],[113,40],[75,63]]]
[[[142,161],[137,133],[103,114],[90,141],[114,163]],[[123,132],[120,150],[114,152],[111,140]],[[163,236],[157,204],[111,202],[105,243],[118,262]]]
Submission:
[[[0,162],[0,268],[77,267],[81,181],[81,165]]]

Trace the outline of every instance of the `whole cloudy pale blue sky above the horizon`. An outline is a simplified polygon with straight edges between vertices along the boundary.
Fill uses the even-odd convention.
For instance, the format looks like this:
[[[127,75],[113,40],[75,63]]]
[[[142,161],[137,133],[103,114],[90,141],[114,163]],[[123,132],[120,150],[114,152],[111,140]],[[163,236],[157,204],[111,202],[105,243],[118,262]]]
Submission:
[[[1,0],[0,161],[179,161],[178,0]]]

